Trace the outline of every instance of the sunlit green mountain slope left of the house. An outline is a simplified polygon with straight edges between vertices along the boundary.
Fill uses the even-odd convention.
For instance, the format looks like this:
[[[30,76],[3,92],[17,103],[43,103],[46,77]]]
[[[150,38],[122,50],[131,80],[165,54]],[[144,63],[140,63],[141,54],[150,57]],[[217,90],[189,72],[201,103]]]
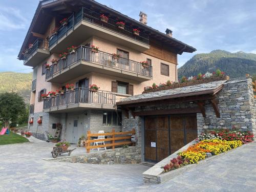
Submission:
[[[0,93],[17,92],[29,103],[32,73],[0,72]]]

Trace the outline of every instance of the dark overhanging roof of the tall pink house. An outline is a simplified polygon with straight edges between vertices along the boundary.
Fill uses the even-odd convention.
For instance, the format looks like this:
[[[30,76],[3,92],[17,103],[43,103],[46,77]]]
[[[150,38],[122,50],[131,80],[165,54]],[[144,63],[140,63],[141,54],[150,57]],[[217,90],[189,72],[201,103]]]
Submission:
[[[72,2],[72,3],[76,3],[76,2],[77,2],[78,4],[80,4],[80,3],[87,3],[87,4],[90,3],[90,4],[94,4],[94,5],[96,5],[96,6],[99,6],[99,7],[101,7],[101,8],[104,8],[104,9],[106,9],[106,10],[108,10],[108,11],[111,11],[111,12],[117,14],[117,15],[120,15],[121,17],[124,17],[124,18],[126,18],[126,19],[129,19],[129,20],[131,20],[133,23],[135,23],[136,25],[138,25],[140,28],[142,28],[142,29],[145,28],[145,29],[147,29],[147,30],[150,30],[151,32],[156,33],[156,34],[160,35],[161,37],[163,37],[163,38],[165,38],[165,39],[169,39],[169,40],[171,40],[171,41],[177,43],[178,45],[183,46],[183,49],[181,49],[181,50],[178,52],[178,54],[182,54],[182,52],[189,52],[189,53],[192,53],[192,52],[196,51],[196,49],[195,49],[194,47],[191,47],[191,46],[189,46],[189,45],[187,45],[187,44],[184,44],[184,42],[181,42],[181,41],[179,41],[179,40],[177,40],[177,39],[175,39],[175,38],[173,38],[173,37],[170,37],[170,36],[166,35],[165,33],[162,33],[162,32],[160,32],[160,31],[158,31],[158,30],[156,30],[156,29],[154,29],[154,28],[152,28],[152,27],[150,27],[150,26],[144,25],[144,24],[140,23],[138,20],[135,20],[135,19],[133,19],[133,18],[127,16],[127,15],[124,15],[124,14],[122,14],[122,13],[120,13],[120,12],[118,12],[118,11],[112,9],[112,8],[109,8],[109,7],[105,6],[105,5],[102,5],[102,4],[100,4],[100,3],[96,2],[96,1],[93,1],[93,0],[74,0],[74,1],[71,1],[71,0],[43,0],[43,1],[40,1],[40,2],[39,2],[38,6],[37,6],[37,8],[36,8],[36,11],[35,11],[35,14],[34,14],[34,16],[33,16],[32,22],[31,22],[31,24],[30,24],[30,27],[29,27],[28,32],[27,32],[27,34],[26,34],[26,37],[25,37],[25,39],[24,39],[23,45],[22,45],[22,47],[20,48],[20,51],[19,51],[19,54],[18,54],[18,58],[19,58],[19,59],[20,59],[21,56],[22,56],[22,51],[23,51],[23,49],[24,49],[25,46],[28,44],[29,36],[30,36],[30,34],[31,34],[31,31],[32,31],[33,27],[35,26],[34,24],[35,24],[35,22],[36,22],[36,19],[37,19],[37,17],[38,17],[38,14],[39,14],[39,12],[40,12],[40,10],[41,10],[41,7],[42,7],[42,6],[45,7],[45,6],[48,5],[48,4],[49,4],[49,5],[50,5],[50,4],[56,5],[56,4],[58,4],[58,3],[59,3],[60,5],[63,5],[63,4],[65,4],[65,2]],[[81,4],[80,4],[80,5],[81,5]],[[49,13],[48,13],[48,15],[49,15]]]

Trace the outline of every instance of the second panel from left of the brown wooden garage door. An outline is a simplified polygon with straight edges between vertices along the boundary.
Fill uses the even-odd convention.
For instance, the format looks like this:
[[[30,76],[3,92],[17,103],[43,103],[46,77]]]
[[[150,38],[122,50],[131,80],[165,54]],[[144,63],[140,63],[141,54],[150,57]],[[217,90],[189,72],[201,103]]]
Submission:
[[[160,116],[156,118],[157,130],[157,162],[168,157],[169,152],[169,118],[168,116]]]

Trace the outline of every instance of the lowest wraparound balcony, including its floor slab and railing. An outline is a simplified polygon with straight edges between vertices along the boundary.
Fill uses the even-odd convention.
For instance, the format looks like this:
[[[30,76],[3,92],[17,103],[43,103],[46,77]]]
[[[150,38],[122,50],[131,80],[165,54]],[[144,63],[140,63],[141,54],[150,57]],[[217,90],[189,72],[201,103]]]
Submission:
[[[115,109],[116,95],[108,91],[97,92],[78,88],[44,100],[45,112],[72,112],[84,109]]]

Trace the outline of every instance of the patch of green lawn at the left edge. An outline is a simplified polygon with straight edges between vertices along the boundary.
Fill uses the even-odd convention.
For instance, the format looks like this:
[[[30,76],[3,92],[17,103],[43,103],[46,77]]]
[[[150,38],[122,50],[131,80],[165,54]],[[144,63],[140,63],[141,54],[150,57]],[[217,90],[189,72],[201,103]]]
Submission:
[[[10,132],[10,134],[0,135],[0,145],[13,144],[13,143],[25,143],[29,140],[23,136]]]

